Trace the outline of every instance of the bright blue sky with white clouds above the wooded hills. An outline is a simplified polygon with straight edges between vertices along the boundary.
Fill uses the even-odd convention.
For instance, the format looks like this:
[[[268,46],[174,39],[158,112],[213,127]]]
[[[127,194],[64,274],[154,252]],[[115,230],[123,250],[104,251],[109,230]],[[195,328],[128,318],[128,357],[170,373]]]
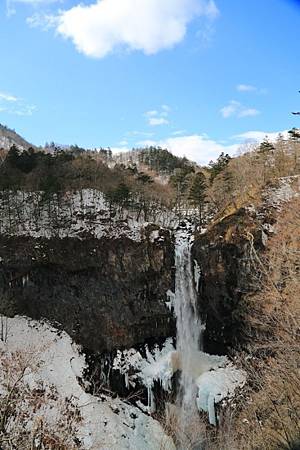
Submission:
[[[295,0],[2,0],[0,122],[204,163],[300,126],[299,33]]]

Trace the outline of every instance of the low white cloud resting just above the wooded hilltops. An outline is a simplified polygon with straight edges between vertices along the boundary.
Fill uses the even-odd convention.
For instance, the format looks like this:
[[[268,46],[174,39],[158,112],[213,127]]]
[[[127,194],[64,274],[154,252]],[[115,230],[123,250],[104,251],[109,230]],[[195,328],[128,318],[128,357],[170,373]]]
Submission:
[[[167,148],[176,156],[186,156],[199,164],[208,164],[210,160],[216,159],[221,152],[235,154],[239,144],[220,144],[206,135],[193,134],[189,136],[170,137],[163,140],[144,140],[138,142],[139,146],[159,145]]]

